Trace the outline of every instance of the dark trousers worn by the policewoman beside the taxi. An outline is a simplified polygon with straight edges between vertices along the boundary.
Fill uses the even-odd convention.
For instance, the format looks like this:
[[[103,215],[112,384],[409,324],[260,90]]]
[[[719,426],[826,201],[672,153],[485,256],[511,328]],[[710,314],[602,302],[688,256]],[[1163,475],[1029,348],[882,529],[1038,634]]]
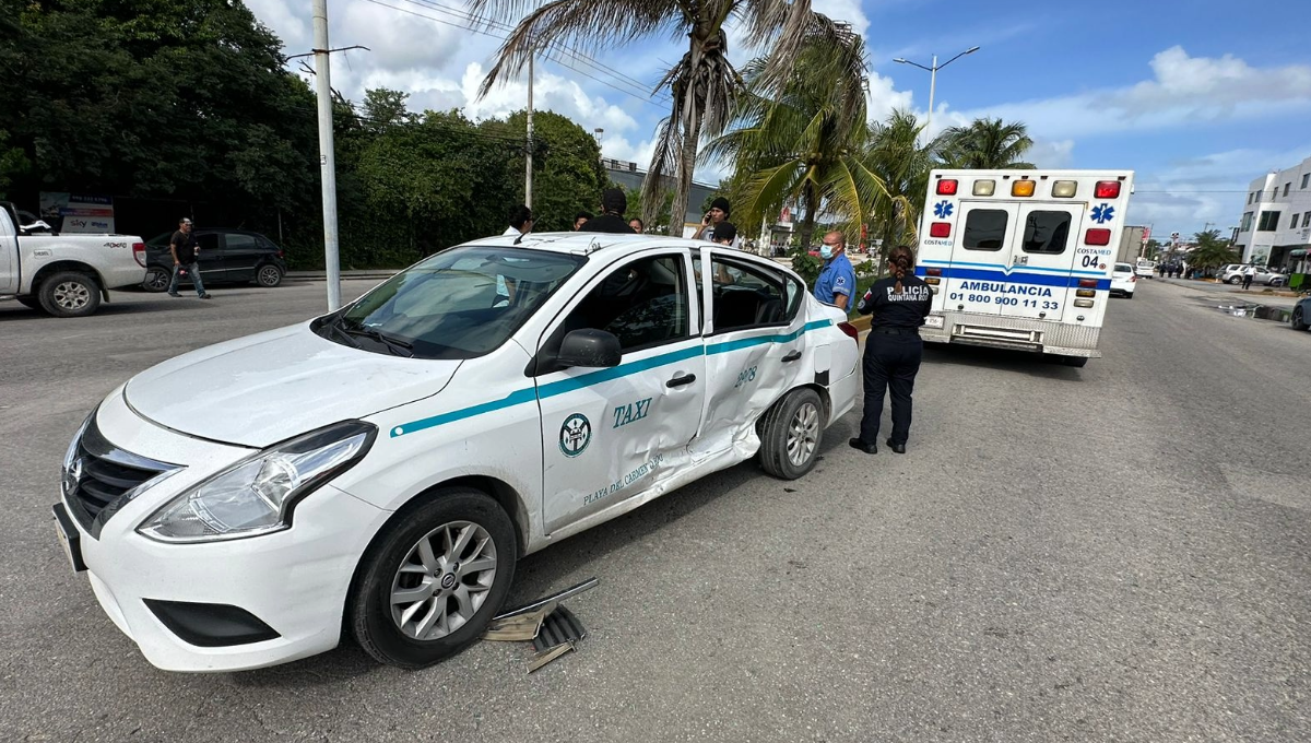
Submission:
[[[889,335],[873,330],[865,339],[865,413],[860,419],[860,439],[878,443],[878,419],[884,414],[884,391],[893,396],[894,444],[905,444],[910,436],[910,393],[915,389],[915,375],[924,355],[924,342],[915,333]]]

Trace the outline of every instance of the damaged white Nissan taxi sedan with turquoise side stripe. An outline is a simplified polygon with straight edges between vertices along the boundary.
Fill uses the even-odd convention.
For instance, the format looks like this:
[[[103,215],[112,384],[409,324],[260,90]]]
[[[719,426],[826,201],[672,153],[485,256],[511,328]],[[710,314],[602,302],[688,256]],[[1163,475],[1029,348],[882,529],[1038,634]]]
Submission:
[[[809,472],[856,360],[846,314],[764,258],[481,240],[115,389],[68,448],[59,537],[160,668],[343,632],[421,667],[482,634],[519,557],[751,457]]]

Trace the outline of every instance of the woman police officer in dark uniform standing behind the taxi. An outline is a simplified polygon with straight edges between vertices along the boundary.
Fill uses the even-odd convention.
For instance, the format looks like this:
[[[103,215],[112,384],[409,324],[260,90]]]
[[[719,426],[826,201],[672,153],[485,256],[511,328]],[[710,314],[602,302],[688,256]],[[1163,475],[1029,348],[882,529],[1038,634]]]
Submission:
[[[878,452],[878,419],[884,414],[884,391],[891,389],[893,432],[888,446],[906,453],[910,435],[910,393],[915,388],[924,342],[919,326],[924,324],[933,300],[932,290],[915,275],[915,256],[898,245],[888,254],[891,275],[878,279],[856,305],[861,314],[873,313],[865,339],[865,414],[860,419],[860,438],[848,442],[865,453]]]

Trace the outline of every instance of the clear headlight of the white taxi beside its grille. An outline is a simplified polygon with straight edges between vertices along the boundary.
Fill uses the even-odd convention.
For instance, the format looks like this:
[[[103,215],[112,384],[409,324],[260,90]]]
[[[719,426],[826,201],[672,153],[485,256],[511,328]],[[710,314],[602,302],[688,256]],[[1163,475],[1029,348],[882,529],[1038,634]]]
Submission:
[[[291,525],[291,508],[350,469],[378,427],[345,421],[270,447],[195,485],[136,528],[168,543],[240,539]]]

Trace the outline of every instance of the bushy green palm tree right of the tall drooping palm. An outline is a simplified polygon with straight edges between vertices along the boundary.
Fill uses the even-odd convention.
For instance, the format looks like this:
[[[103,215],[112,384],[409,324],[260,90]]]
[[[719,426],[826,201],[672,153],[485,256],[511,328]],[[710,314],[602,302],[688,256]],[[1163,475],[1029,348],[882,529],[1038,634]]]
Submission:
[[[711,142],[703,159],[735,165],[741,200],[734,214],[743,224],[784,203],[800,203],[800,238],[806,246],[821,211],[859,224],[885,195],[860,157],[868,131],[859,75],[865,46],[855,35],[838,47],[808,45],[776,97],[768,94],[768,59],[747,64],[734,128]]]

